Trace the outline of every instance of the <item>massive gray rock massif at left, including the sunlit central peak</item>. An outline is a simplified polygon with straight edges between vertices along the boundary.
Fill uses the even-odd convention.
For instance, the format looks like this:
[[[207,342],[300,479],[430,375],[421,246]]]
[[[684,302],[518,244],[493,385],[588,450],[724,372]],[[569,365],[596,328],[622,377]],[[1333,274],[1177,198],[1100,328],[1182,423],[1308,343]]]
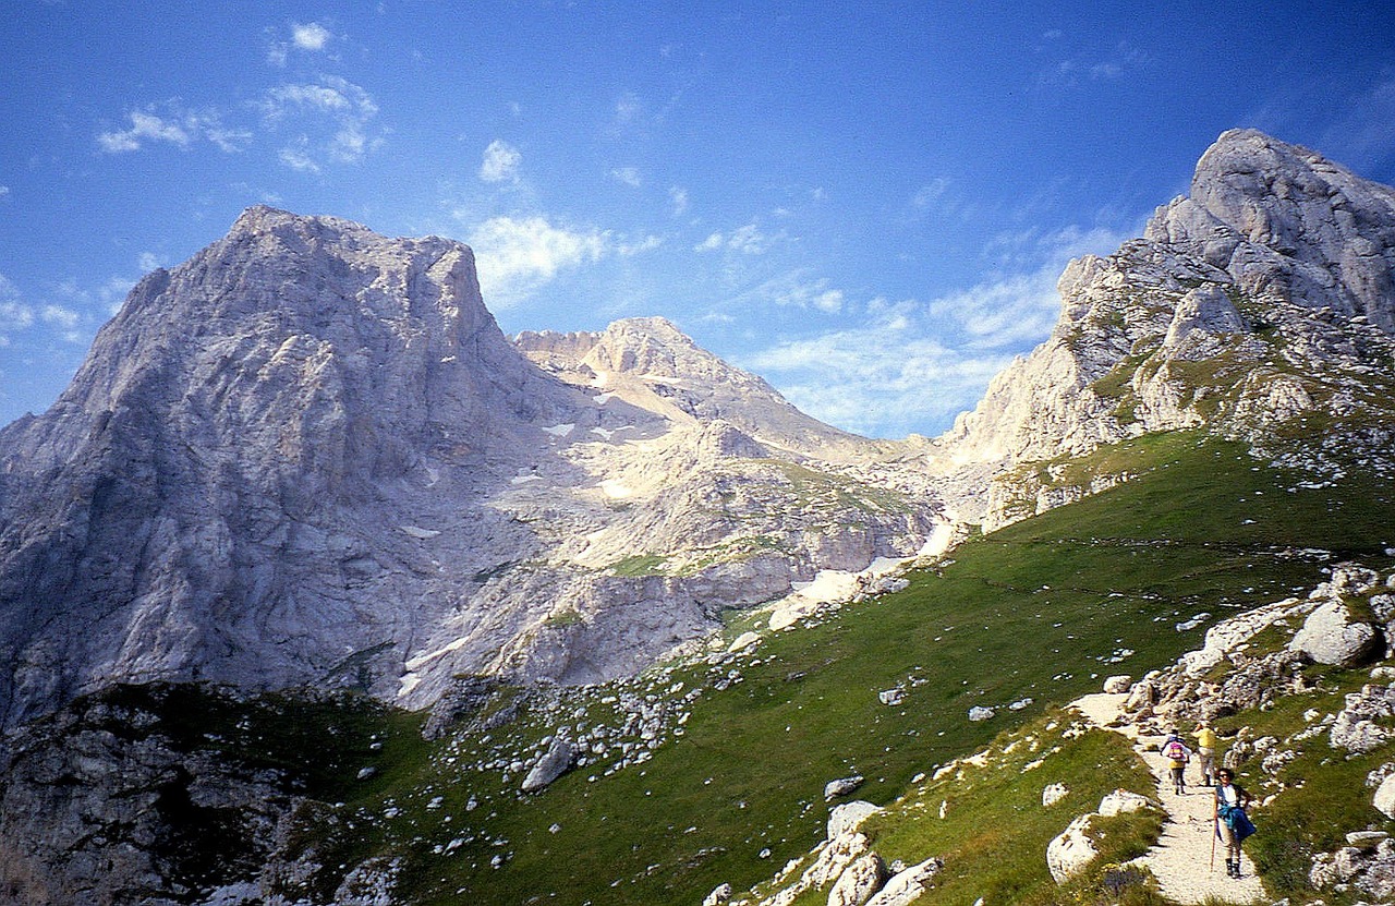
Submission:
[[[0,431],[0,725],[113,681],[604,680],[933,529],[928,477],[661,320],[525,346],[552,373],[444,239],[251,208],[151,274]]]

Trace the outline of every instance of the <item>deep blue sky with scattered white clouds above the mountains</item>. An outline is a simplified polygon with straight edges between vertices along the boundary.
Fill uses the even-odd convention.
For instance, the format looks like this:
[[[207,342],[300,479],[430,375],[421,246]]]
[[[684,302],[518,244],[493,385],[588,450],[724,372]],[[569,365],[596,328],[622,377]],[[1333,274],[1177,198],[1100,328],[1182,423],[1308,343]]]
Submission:
[[[901,437],[1045,339],[1066,260],[1223,130],[1395,183],[1370,0],[4,1],[0,423],[258,202],[470,243],[508,332],[664,315]]]

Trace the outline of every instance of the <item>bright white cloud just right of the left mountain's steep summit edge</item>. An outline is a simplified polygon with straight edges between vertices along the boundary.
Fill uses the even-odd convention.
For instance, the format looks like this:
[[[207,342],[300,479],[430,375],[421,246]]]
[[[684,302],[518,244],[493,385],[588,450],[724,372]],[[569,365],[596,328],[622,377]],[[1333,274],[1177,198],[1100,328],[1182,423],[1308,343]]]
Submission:
[[[491,309],[520,304],[562,271],[603,258],[640,254],[657,237],[625,240],[610,230],[557,226],[544,216],[497,216],[469,236],[480,286]]]

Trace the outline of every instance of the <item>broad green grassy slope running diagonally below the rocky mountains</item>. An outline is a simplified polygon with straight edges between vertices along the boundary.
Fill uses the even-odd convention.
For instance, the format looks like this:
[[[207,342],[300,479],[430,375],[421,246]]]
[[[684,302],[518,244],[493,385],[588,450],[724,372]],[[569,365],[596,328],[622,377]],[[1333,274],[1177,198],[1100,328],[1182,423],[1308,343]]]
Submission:
[[[1189,434],[1131,447],[1138,480],[965,544],[904,592],[767,641],[744,681],[702,698],[685,736],[643,766],[594,783],[580,769],[522,800],[497,773],[439,762],[403,773],[398,800],[410,804],[406,785],[445,796],[431,814],[406,807],[388,835],[413,853],[409,889],[442,903],[460,891],[481,903],[653,903],[696,902],[723,881],[741,889],[822,839],[824,780],[862,773],[858,796],[887,803],[915,773],[1046,702],[1092,691],[1109,673],[1168,663],[1230,609],[1320,581],[1320,561],[1278,549],[1374,563],[1389,540],[1382,483],[1352,477],[1290,493],[1302,476],[1237,447]],[[1198,613],[1212,616],[1175,628]],[[1108,663],[1124,649],[1134,653]],[[674,678],[692,684],[700,673]],[[877,704],[879,690],[912,676],[901,706]],[[1035,704],[1021,711],[1003,708],[1028,697]],[[997,706],[997,716],[971,723],[972,705]],[[375,811],[384,794],[379,786],[359,803]],[[472,794],[484,804],[466,812]],[[470,836],[490,842],[421,856]],[[508,861],[490,867],[504,852]]]

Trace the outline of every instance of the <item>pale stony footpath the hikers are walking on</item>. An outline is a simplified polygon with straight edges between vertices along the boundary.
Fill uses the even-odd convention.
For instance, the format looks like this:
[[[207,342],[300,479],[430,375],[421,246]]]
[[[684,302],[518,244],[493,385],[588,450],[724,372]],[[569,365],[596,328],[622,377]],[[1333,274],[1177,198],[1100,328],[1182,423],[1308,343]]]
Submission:
[[[1119,715],[1124,698],[1126,695],[1087,695],[1073,702],[1073,706],[1096,726],[1116,730],[1133,740],[1134,751],[1147,762],[1158,782],[1158,801],[1166,810],[1168,821],[1162,826],[1162,839],[1138,861],[1158,878],[1163,896],[1179,903],[1201,903],[1208,899],[1228,903],[1268,902],[1249,856],[1242,859],[1239,879],[1226,877],[1225,850],[1219,840],[1212,860],[1211,821],[1215,797],[1208,787],[1200,786],[1196,766],[1187,766],[1187,787],[1177,796],[1168,776],[1166,759],[1156,751],[1162,737],[1138,736],[1138,727],[1131,725],[1109,726]],[[1193,783],[1197,786],[1191,786]]]

